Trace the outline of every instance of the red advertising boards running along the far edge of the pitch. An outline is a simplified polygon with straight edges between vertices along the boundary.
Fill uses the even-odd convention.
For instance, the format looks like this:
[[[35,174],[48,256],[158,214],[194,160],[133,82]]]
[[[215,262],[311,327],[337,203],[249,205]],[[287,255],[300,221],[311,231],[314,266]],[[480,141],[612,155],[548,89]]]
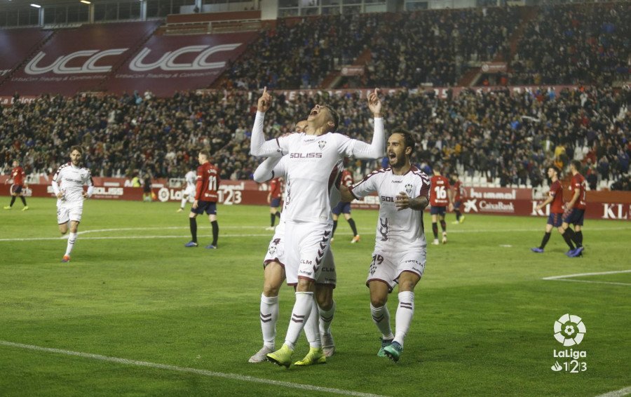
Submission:
[[[8,180],[6,175],[0,176],[0,184]],[[43,184],[31,184],[25,189],[25,196],[50,197],[53,188],[41,178]],[[93,198],[108,200],[142,200],[142,187],[131,187],[131,180],[125,178],[95,177]],[[154,196],[158,201],[182,200],[182,188],[169,187],[168,181],[158,179],[151,182]],[[226,180],[219,185],[219,203],[232,205],[260,205],[267,203],[267,184],[257,184],[251,180]],[[510,189],[498,187],[468,187],[467,196],[462,202],[462,212],[466,214],[484,215],[519,215],[547,217],[549,206],[544,210],[536,210],[541,199],[533,198],[531,189]],[[566,191],[566,196],[570,194]],[[0,196],[8,196],[9,185],[1,189]],[[569,196],[565,197],[566,201]],[[588,208],[585,217],[588,219],[631,220],[631,192],[628,191],[588,191]],[[363,200],[355,200],[355,209],[379,208],[379,197],[367,196]]]

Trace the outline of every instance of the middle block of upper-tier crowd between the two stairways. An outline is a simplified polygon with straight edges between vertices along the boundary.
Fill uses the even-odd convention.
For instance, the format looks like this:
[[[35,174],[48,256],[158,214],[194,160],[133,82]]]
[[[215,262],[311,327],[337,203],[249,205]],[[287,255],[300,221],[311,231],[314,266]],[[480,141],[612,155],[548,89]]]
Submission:
[[[469,8],[391,15],[369,44],[362,86],[454,86],[469,61],[508,59],[520,8]],[[392,29],[396,26],[396,29]]]

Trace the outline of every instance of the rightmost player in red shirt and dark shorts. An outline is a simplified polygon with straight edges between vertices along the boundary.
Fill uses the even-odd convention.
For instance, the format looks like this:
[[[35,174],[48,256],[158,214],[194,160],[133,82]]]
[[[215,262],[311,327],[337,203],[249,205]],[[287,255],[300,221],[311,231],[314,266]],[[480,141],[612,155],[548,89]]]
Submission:
[[[572,173],[572,182],[570,190],[574,193],[567,203],[567,208],[563,217],[563,238],[570,246],[570,250],[565,254],[569,257],[578,257],[583,255],[583,219],[585,217],[585,209],[587,201],[585,201],[585,177],[578,172],[581,168],[581,162],[574,160],[570,163],[570,171]],[[574,224],[574,230],[569,228],[569,224]],[[572,245],[576,243],[576,248]]]

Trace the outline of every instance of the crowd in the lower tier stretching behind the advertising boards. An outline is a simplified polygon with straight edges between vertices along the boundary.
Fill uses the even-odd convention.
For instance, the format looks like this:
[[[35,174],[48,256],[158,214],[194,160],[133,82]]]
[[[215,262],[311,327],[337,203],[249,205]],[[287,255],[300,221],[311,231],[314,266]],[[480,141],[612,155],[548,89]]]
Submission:
[[[207,148],[222,179],[249,179],[257,159],[248,153],[257,93],[212,91],[170,98],[44,95],[30,104],[6,107],[0,119],[0,166],[19,159],[28,173],[50,175],[66,161],[65,148],[82,144],[93,175],[182,177]],[[315,103],[341,116],[339,131],[367,140],[372,122],[360,93],[297,95],[279,93],[266,117],[267,136],[290,132]],[[584,87],[510,93],[463,90],[439,98],[434,91],[399,90],[383,98],[386,129],[406,126],[420,142],[415,160],[442,163],[446,172],[480,173],[502,185],[541,184],[545,166],[585,164],[595,187],[604,179],[628,177],[631,154],[631,89]],[[358,165],[359,166],[359,165]],[[360,163],[365,173],[375,163]],[[620,187],[628,187],[620,183]]]

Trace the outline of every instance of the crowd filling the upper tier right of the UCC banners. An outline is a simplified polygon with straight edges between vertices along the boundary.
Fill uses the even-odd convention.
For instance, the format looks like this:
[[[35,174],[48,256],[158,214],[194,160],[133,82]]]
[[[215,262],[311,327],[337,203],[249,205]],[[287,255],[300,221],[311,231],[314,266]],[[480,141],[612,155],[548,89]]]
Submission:
[[[484,61],[508,62],[504,84],[611,84],[629,79],[628,20],[628,1],[284,18],[215,86],[315,88],[353,63],[350,86],[454,86]]]

